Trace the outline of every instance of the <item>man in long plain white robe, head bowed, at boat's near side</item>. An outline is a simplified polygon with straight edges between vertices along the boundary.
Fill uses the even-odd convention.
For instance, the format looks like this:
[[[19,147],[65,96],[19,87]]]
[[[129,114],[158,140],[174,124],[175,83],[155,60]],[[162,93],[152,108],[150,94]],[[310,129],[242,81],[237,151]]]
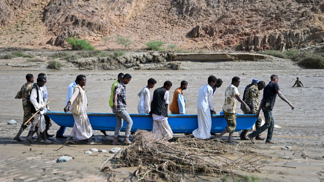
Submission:
[[[213,75],[208,77],[208,84],[200,87],[197,100],[198,128],[192,131],[195,138],[208,139],[212,135],[213,88],[217,78]]]

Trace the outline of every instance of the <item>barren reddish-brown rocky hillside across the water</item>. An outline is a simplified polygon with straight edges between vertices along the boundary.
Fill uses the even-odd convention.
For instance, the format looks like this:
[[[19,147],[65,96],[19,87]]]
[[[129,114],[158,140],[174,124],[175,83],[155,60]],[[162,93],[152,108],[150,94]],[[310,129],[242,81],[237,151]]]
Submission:
[[[113,50],[121,35],[134,50],[302,48],[324,42],[323,13],[323,0],[4,0],[0,47],[62,49],[77,36]]]

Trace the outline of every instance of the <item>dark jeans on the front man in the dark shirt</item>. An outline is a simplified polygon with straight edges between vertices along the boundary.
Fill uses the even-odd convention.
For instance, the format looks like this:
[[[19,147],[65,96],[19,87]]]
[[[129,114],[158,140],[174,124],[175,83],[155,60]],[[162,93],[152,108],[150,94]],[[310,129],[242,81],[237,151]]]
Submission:
[[[263,131],[265,131],[266,129],[268,129],[268,135],[267,135],[267,139],[266,142],[271,142],[272,140],[272,133],[273,133],[273,127],[274,127],[274,119],[272,117],[272,110],[269,108],[263,109],[263,115],[264,115],[264,119],[265,119],[265,123],[264,125],[262,125],[259,129],[257,129],[256,131],[253,131],[250,134],[250,137],[256,137],[257,135],[261,134]]]

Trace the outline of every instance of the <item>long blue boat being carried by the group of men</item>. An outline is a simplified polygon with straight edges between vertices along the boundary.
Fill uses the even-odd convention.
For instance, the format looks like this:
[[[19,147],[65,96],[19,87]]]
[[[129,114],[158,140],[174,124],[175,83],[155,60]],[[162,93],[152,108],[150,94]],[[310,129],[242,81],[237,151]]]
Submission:
[[[93,130],[115,131],[116,116],[113,113],[87,113]],[[53,112],[46,113],[57,125],[65,127],[73,127],[74,118],[72,113]],[[147,130],[151,131],[153,127],[153,119],[148,114],[129,114],[133,119],[131,131]],[[257,121],[256,115],[253,114],[237,114],[236,130],[251,129]],[[191,133],[198,128],[197,114],[169,114],[169,125],[173,133]],[[225,130],[227,122],[223,115],[213,115],[211,133],[220,133]],[[126,122],[124,121],[121,131],[125,131]]]

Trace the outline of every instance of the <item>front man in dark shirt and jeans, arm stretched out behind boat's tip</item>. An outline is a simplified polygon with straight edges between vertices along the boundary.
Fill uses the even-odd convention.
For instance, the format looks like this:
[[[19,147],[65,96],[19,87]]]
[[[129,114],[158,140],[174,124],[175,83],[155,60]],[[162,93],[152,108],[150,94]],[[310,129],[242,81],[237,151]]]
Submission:
[[[274,127],[274,119],[272,117],[272,109],[274,107],[274,102],[276,101],[277,94],[278,96],[285,101],[286,103],[289,104],[292,110],[294,110],[294,106],[284,97],[284,95],[280,92],[278,81],[279,78],[277,75],[273,74],[270,77],[271,81],[269,82],[268,85],[264,87],[263,90],[263,98],[261,100],[260,108],[258,109],[257,117],[260,115],[260,110],[262,108],[262,112],[264,115],[265,123],[262,125],[259,129],[256,131],[253,131],[248,135],[249,139],[251,140],[252,143],[253,137],[256,137],[257,135],[260,135],[263,131],[268,129],[268,135],[265,143],[274,143],[272,142],[272,133],[273,133],[273,127]]]

